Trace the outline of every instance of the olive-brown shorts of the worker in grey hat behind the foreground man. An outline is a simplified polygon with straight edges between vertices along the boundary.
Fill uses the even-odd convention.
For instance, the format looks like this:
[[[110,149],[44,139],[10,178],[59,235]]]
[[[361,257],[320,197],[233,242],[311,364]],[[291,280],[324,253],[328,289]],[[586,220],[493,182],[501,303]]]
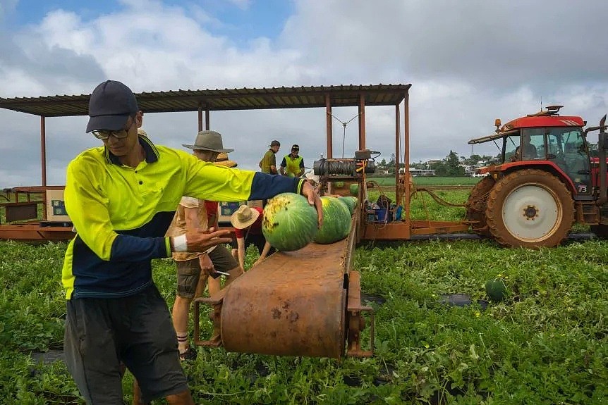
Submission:
[[[233,268],[238,267],[230,251],[223,244],[217,245],[209,252],[209,258],[215,270],[228,273]],[[194,298],[196,286],[200,278],[200,262],[198,258],[192,260],[176,261],[177,265],[177,294],[182,298]]]

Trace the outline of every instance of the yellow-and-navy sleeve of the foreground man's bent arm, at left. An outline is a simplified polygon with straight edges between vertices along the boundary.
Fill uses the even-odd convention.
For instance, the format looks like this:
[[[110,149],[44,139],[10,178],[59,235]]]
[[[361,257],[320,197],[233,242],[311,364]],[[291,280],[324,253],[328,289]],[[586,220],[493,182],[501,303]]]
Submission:
[[[68,165],[63,192],[78,237],[104,261],[142,261],[168,257],[169,238],[118,234],[110,221],[108,197],[90,167],[78,158]]]

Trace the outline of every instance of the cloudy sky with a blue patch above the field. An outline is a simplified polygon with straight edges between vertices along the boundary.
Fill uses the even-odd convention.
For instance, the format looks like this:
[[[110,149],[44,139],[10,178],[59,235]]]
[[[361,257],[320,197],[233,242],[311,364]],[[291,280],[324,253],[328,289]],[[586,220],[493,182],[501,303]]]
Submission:
[[[563,104],[597,125],[608,112],[608,2],[588,0],[0,0],[0,97],[89,94],[121,80],[171,89],[411,83],[412,161],[469,156],[494,119]],[[348,121],[355,108],[334,108]],[[47,119],[47,179],[99,141],[85,117]],[[41,184],[39,118],[0,110],[0,187]],[[334,156],[356,149],[334,121]],[[191,143],[196,113],[147,114],[145,130]],[[325,148],[324,109],[211,114],[241,168],[272,139]],[[394,151],[394,107],[367,108],[367,147]],[[494,144],[475,154],[496,154]]]

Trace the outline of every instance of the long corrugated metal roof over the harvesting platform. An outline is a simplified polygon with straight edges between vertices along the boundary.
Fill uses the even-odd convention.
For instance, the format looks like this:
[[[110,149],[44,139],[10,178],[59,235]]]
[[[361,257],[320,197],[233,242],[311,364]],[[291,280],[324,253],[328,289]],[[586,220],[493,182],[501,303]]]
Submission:
[[[365,106],[392,106],[403,101],[411,85],[340,85],[272,87],[261,89],[177,90],[142,92],[137,96],[145,113],[176,111],[255,110],[265,108],[324,107],[329,95],[332,107],[358,106],[359,95]],[[90,94],[0,98],[0,108],[45,117],[86,116]]]

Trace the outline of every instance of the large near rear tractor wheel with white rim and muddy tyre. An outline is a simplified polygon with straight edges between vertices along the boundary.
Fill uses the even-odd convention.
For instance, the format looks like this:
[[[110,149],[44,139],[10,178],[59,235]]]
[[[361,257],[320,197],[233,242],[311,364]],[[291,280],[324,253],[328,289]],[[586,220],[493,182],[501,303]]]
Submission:
[[[485,211],[490,233],[506,247],[557,246],[574,223],[574,203],[563,182],[543,170],[519,170],[501,178]]]

